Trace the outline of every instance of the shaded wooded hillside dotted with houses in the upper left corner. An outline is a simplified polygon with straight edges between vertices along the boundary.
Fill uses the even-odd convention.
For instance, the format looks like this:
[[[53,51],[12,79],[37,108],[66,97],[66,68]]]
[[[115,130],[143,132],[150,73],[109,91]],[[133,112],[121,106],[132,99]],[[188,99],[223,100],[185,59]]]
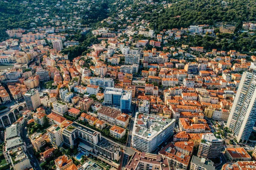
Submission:
[[[92,26],[122,9],[127,3],[132,2],[131,0],[87,0],[82,3],[78,3],[78,0],[0,0],[0,41],[7,37],[6,29],[56,26],[51,20],[57,17],[66,18],[61,22],[77,21]],[[36,18],[44,18],[44,20],[36,22]]]

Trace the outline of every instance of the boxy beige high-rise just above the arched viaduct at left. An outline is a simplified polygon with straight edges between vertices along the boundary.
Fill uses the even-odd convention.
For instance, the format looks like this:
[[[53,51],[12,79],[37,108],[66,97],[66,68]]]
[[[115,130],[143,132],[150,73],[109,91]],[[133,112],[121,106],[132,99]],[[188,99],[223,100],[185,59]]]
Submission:
[[[39,92],[37,89],[31,89],[24,94],[26,106],[29,110],[35,110],[41,105]]]

